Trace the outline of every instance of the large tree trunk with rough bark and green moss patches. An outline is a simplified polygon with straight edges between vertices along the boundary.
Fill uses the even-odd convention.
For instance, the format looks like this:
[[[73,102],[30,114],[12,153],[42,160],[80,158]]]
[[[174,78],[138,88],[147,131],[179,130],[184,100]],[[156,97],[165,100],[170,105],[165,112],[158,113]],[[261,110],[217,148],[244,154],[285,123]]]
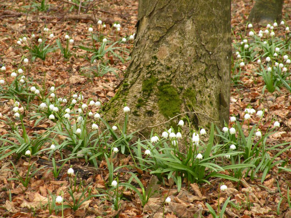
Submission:
[[[230,5],[230,0],[139,0],[131,64],[105,107],[106,117],[122,124],[126,103],[132,130],[187,111],[207,115],[190,116],[196,128],[227,122]]]

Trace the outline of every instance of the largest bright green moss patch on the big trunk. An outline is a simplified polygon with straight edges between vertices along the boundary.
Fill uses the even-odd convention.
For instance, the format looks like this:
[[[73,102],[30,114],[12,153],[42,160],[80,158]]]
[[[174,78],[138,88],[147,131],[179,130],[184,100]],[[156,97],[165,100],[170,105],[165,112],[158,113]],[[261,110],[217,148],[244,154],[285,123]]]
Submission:
[[[177,90],[170,84],[161,84],[159,86],[158,97],[159,111],[166,119],[180,113],[182,100]]]

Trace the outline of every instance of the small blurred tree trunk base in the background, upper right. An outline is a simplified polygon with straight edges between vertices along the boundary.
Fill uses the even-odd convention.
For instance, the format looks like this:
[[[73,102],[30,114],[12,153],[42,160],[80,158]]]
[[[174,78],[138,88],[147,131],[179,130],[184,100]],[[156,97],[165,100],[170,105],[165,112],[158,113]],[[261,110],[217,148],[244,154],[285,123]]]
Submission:
[[[249,14],[249,21],[261,25],[281,21],[283,2],[284,0],[257,0]]]

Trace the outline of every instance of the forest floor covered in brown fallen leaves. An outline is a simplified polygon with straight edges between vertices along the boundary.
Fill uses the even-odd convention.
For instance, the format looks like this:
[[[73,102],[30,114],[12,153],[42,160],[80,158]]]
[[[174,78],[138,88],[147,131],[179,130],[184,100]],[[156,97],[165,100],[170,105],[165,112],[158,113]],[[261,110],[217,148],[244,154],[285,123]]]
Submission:
[[[5,78],[5,84],[12,84],[15,78],[11,76],[11,73],[14,71],[18,73],[17,69],[21,67],[25,71],[25,77],[30,78],[29,87],[33,85],[42,88],[40,94],[42,97],[38,97],[36,94],[31,97],[30,101],[28,100],[27,104],[21,102],[20,113],[34,114],[36,109],[33,106],[39,105],[43,101],[43,96],[51,93],[49,88],[52,86],[57,88],[55,93],[58,97],[66,98],[73,93],[82,93],[84,99],[99,100],[102,104],[115,95],[130,62],[129,54],[134,45],[130,35],[135,33],[138,1],[100,0],[85,2],[82,5],[78,2],[74,0],[45,1],[45,5],[41,5],[37,1],[10,0],[0,3],[0,67],[5,66],[6,68],[0,71],[0,79]],[[235,39],[241,41],[240,34],[245,35],[247,17],[253,4],[254,2],[249,0],[232,1],[233,42]],[[283,9],[286,26],[291,26],[291,15],[286,13],[287,10],[290,12],[290,7],[291,3],[286,2]],[[44,10],[41,11],[42,9]],[[99,19],[102,20],[102,25],[97,23]],[[113,27],[114,23],[121,25],[120,31],[116,31],[116,28]],[[104,24],[106,27],[103,28]],[[88,32],[89,27],[94,29],[96,35],[102,35],[103,38],[106,36],[110,44],[117,42],[114,47],[119,47],[112,50],[116,55],[111,51],[106,51],[104,55],[102,54],[105,62],[102,58],[90,62],[92,52],[89,51],[91,49],[89,44],[92,43],[92,38],[91,33]],[[44,28],[48,28],[49,31],[45,32]],[[259,26],[254,25],[256,32],[259,29]],[[33,48],[28,42],[30,39],[27,39],[27,43],[23,41],[23,37],[32,38],[32,34],[35,34],[35,40],[41,38],[44,42],[46,38],[45,43],[54,46],[57,46],[54,43],[59,38],[63,49],[69,48],[71,55],[69,58],[65,58],[61,50],[56,49],[55,52],[49,52],[45,60],[36,57],[35,61],[32,61],[33,54],[28,49]],[[50,34],[53,34],[51,38],[49,38]],[[72,44],[66,41],[66,34],[74,40]],[[126,42],[122,42],[124,37]],[[19,38],[22,39],[20,45],[18,44]],[[25,45],[28,48],[25,48]],[[66,47],[66,45],[68,46]],[[80,45],[83,47],[79,47]],[[86,58],[88,52],[91,53]],[[234,48],[233,52],[235,58],[236,50]],[[29,59],[28,63],[23,63],[24,58]],[[269,145],[289,143],[291,142],[290,92],[286,88],[280,87],[280,91],[276,90],[273,93],[265,91],[263,94],[265,83],[261,76],[254,75],[253,72],[256,68],[256,62],[248,63],[238,77],[240,82],[237,84],[232,82],[230,115],[234,115],[237,120],[241,121],[247,106],[250,105],[256,110],[264,108],[265,116],[259,126],[262,133],[269,130],[274,118],[280,123],[277,131],[266,138],[266,143]],[[15,94],[13,89],[15,87],[7,92],[7,96]],[[3,94],[3,89],[1,94]],[[30,95],[25,91],[16,94],[20,100],[23,98],[26,101],[27,97],[24,95]],[[2,138],[12,140],[15,144],[21,144],[17,137],[12,137],[10,134],[16,130],[14,127],[19,126],[20,133],[23,133],[22,127],[24,127],[28,137],[32,139],[30,143],[33,143],[35,137],[41,136],[47,129],[54,127],[55,122],[50,119],[42,120],[37,125],[35,125],[36,120],[30,119],[29,116],[24,116],[23,122],[15,119],[13,112],[15,100],[13,97],[9,99],[7,96],[1,95],[0,97],[0,135]],[[92,107],[91,111],[95,113],[98,108]],[[38,114],[38,117],[41,115]],[[251,125],[258,122],[259,117],[253,117]],[[248,124],[244,123],[242,127],[247,129]],[[10,134],[10,136],[6,137],[6,134]],[[63,140],[64,136],[60,135],[58,138],[58,140]],[[2,147],[6,146],[6,143],[3,141]],[[50,144],[45,142],[40,145],[39,150],[49,146]],[[283,148],[279,147],[279,149]],[[1,149],[0,158],[11,150]],[[193,217],[197,210],[200,211],[202,217],[212,217],[206,203],[217,211],[218,203],[225,202],[228,197],[232,204],[226,208],[226,217],[291,217],[290,197],[288,197],[290,196],[291,175],[290,172],[279,171],[277,167],[271,167],[263,183],[260,179],[263,172],[258,172],[255,179],[245,177],[242,178],[241,183],[213,179],[210,184],[192,183],[189,187],[183,184],[180,192],[177,191],[177,187],[172,184],[172,181],[165,179],[164,184],[159,183],[157,188],[159,195],[149,198],[145,206],[142,206],[140,196],[128,189],[122,192],[123,197],[119,199],[119,206],[114,210],[115,190],[109,189],[107,185],[110,172],[105,159],[98,162],[98,168],[82,156],[70,159],[64,166],[61,166],[62,162],[58,162],[57,168],[60,167],[61,170],[55,177],[52,171],[49,171],[53,169],[52,153],[47,154],[47,150],[36,152],[37,154],[31,157],[25,156],[24,150],[22,153],[18,153],[18,157],[11,154],[0,159],[0,217],[119,216],[141,218],[165,216],[175,218]],[[272,157],[274,153],[270,152],[270,155]],[[55,151],[53,154],[57,161],[68,156],[69,154],[64,151]],[[288,149],[276,157],[275,161],[284,160],[288,167],[290,158],[291,150]],[[32,162],[39,171],[33,174],[26,183],[26,187],[19,179],[12,180],[12,178],[25,178],[26,175],[32,175],[28,172],[28,167]],[[122,165],[133,165],[132,158],[122,154],[115,156],[111,162],[115,168]],[[72,178],[70,179],[67,174],[71,165],[75,174],[78,171],[75,186],[82,187],[73,193],[73,197],[66,192],[69,187],[72,188]],[[151,175],[146,170],[128,170],[125,167],[115,170],[114,174],[123,175],[123,177],[119,176],[120,180],[128,180],[129,171],[139,175],[139,180],[144,187],[153,183]],[[222,182],[228,187],[224,193],[219,191]],[[88,189],[86,190],[85,187]],[[85,190],[84,196],[82,196],[82,190]],[[98,196],[86,199],[88,190],[90,190],[90,194],[104,194],[106,197]],[[64,203],[66,206],[62,210],[60,204],[53,202],[53,196],[58,196],[61,192],[64,193],[63,198],[68,199],[68,202],[74,202],[74,198],[81,201],[85,199],[85,201],[77,207],[70,207],[66,202],[66,204]],[[171,196],[170,203],[165,204],[163,199],[165,195]]]

